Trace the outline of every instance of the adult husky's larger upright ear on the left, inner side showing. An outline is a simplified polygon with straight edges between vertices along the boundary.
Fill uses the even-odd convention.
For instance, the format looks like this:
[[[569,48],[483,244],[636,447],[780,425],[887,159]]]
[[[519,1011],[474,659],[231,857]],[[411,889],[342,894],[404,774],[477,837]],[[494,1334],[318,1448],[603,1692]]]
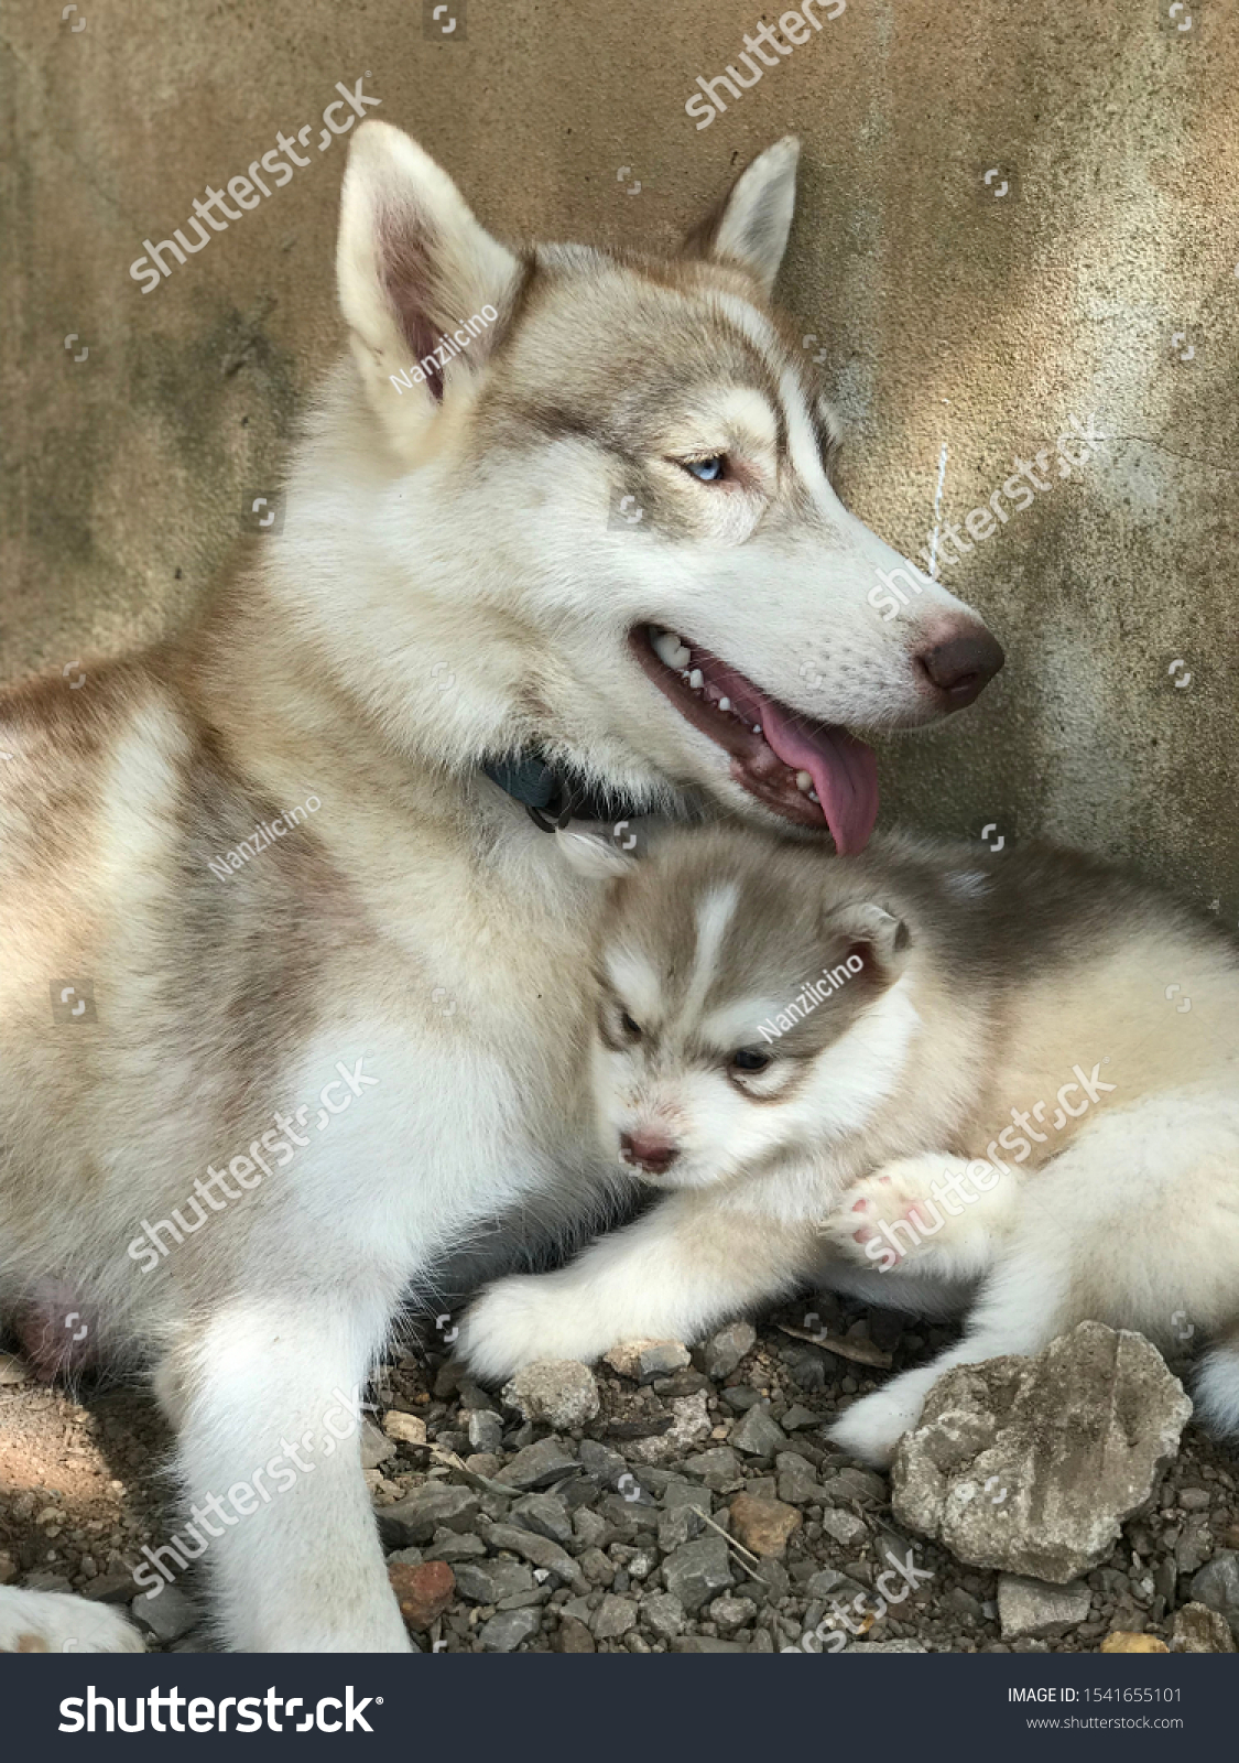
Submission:
[[[354,130],[340,194],[340,310],[397,443],[476,381],[520,277],[520,261],[416,141],[377,118]]]

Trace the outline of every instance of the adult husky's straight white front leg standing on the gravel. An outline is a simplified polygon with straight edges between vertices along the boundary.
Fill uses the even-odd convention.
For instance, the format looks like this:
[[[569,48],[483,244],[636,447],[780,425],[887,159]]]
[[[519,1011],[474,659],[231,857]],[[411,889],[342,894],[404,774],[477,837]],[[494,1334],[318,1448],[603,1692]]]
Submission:
[[[409,1650],[358,1446],[386,1315],[374,1298],[238,1298],[176,1354],[180,1534],[187,1555],[206,1543],[233,1652]]]

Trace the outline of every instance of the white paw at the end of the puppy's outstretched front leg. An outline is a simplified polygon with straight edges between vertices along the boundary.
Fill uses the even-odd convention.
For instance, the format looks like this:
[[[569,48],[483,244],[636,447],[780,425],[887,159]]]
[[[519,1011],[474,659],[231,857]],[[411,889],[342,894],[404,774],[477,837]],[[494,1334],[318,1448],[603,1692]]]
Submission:
[[[499,1382],[536,1359],[589,1363],[610,1345],[599,1342],[585,1296],[560,1285],[555,1275],[515,1273],[469,1306],[456,1350],[478,1377]]]

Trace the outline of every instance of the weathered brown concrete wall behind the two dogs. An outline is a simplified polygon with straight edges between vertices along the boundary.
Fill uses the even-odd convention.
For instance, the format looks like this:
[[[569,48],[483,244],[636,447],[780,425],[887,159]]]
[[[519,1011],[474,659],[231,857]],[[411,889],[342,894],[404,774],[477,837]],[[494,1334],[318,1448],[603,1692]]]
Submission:
[[[887,753],[888,815],[1126,855],[1234,924],[1239,49],[1221,0],[1167,11],[849,0],[698,130],[694,78],[779,9],[453,0],[449,37],[411,0],[12,9],[0,673],[157,631],[270,487],[342,344],[337,81],[508,234],[668,245],[797,130],[783,294],[828,351],[858,513],[915,552],[943,448],[959,524],[1070,414],[1114,437],[943,569],[1008,668]],[[143,238],[307,122],[310,164],[139,293]]]

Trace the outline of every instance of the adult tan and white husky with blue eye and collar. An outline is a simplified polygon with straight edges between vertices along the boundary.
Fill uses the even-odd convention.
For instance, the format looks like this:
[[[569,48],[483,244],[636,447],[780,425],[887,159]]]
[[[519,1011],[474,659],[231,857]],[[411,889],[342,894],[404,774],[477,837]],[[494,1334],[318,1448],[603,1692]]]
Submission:
[[[351,356],[263,564],[185,640],[0,707],[0,1298],[153,1366],[231,1648],[407,1648],[324,1416],[485,1220],[605,1188],[601,892],[527,813],[530,756],[548,823],[592,797],[853,850],[876,788],[844,726],[929,723],[1001,665],[922,577],[904,617],[867,605],[906,564],[835,497],[767,303],[795,160],[673,263],[516,254],[363,123]],[[86,1608],[88,1636],[0,1590],[0,1645],[127,1643]]]

